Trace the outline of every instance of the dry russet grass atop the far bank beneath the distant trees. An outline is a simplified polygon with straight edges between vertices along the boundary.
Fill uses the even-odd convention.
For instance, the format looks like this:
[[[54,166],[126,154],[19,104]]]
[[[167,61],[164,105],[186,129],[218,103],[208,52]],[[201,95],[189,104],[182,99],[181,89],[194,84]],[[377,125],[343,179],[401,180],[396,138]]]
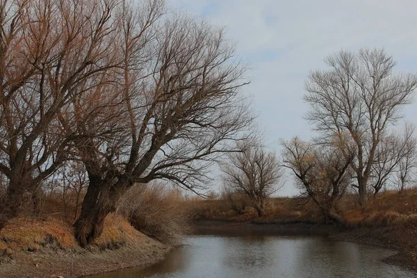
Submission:
[[[268,200],[265,215],[257,218],[250,208],[238,215],[224,199],[211,201],[188,201],[196,219],[243,221],[254,220],[268,223],[323,223],[325,218],[313,202],[305,198],[277,197]],[[417,227],[417,188],[402,193],[387,191],[372,197],[361,208],[357,195],[346,195],[338,204],[338,211],[348,227]]]

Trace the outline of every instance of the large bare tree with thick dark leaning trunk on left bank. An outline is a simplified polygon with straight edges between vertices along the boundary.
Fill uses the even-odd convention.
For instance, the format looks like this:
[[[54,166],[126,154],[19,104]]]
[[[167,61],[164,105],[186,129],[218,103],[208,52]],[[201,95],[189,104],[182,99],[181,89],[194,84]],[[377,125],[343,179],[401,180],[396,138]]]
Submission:
[[[245,68],[223,32],[188,17],[163,17],[161,1],[144,5],[122,11],[117,133],[74,143],[89,177],[74,224],[82,246],[101,234],[104,218],[134,183],[165,179],[189,190],[204,187],[208,167],[234,151],[230,142],[245,138],[241,131],[252,120],[239,94]],[[76,120],[79,130],[101,133],[102,118],[84,115]]]

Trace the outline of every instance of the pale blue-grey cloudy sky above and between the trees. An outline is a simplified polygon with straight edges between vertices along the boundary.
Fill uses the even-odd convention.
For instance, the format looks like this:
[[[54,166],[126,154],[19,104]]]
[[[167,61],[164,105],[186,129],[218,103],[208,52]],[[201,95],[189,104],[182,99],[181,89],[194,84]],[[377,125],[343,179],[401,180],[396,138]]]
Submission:
[[[302,101],[310,70],[341,49],[384,47],[395,71],[417,73],[416,0],[167,0],[182,13],[224,26],[238,56],[250,64],[250,85],[265,142],[279,154],[279,138],[311,138]],[[417,103],[404,109],[417,124]],[[295,195],[287,177],[279,195]]]

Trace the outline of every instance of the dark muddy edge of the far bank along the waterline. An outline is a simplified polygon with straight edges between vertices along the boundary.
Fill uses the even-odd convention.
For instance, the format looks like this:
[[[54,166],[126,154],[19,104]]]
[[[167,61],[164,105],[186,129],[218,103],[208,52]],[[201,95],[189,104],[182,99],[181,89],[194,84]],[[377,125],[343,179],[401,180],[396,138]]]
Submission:
[[[197,234],[279,234],[282,236],[327,236],[332,240],[373,245],[395,250],[397,253],[383,261],[389,265],[417,272],[416,258],[409,248],[417,246],[414,234],[404,229],[392,227],[362,227],[341,228],[333,224],[318,224],[309,222],[262,222],[256,220],[197,220]],[[415,249],[414,249],[415,250]]]

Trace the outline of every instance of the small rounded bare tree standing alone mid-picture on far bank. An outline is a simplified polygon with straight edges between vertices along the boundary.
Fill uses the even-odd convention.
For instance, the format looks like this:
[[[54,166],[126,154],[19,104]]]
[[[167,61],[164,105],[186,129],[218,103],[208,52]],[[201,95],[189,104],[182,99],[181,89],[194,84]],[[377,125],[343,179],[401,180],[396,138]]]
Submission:
[[[232,193],[245,195],[259,216],[265,214],[265,199],[281,188],[283,172],[274,152],[253,142],[240,142],[240,152],[229,155],[222,167],[224,186]]]

